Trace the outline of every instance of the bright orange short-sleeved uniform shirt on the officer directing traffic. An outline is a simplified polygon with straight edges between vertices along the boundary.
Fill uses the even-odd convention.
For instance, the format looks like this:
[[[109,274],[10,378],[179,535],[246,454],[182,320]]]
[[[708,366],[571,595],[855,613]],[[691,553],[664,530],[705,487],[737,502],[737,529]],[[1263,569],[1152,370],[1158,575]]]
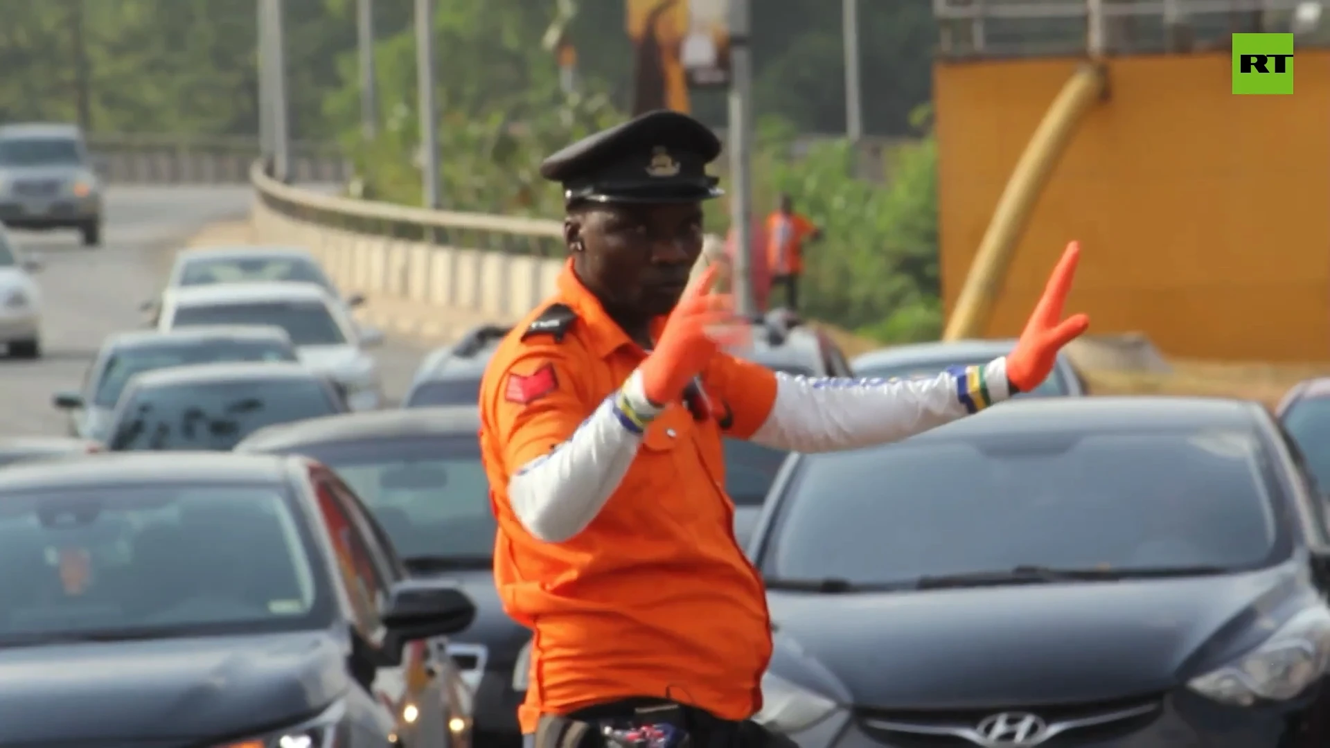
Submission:
[[[549,323],[551,305],[576,318]],[[766,419],[777,389],[769,370],[717,357],[702,379],[721,422],[668,407],[604,508],[568,540],[532,536],[508,499],[513,472],[568,439],[645,355],[569,264],[553,298],[500,343],[481,383],[495,582],[504,610],[535,630],[519,712],[527,733],[541,713],[628,696],[725,719],[761,708],[770,619],[761,578],[734,540],[721,437],[724,426],[746,438]]]

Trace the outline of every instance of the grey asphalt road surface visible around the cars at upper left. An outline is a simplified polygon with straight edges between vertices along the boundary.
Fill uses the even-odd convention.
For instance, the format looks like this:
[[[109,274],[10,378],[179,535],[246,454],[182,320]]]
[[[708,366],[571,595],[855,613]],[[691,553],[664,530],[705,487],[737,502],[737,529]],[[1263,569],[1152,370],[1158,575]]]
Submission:
[[[39,361],[0,359],[0,437],[63,435],[64,414],[51,405],[57,390],[78,389],[106,334],[134,329],[138,303],[160,290],[173,252],[214,221],[249,210],[247,186],[120,186],[106,196],[100,248],[84,248],[74,232],[12,232],[45,268],[43,346]],[[375,351],[384,390],[402,397],[422,351],[398,339]]]

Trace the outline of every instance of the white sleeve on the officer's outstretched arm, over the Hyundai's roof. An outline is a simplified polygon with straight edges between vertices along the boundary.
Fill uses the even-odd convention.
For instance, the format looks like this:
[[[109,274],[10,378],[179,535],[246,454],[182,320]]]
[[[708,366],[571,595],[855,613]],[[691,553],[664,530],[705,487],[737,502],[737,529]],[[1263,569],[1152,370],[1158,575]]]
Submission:
[[[853,450],[912,437],[1011,394],[1005,358],[914,381],[777,374],[775,403],[751,441],[799,453]]]

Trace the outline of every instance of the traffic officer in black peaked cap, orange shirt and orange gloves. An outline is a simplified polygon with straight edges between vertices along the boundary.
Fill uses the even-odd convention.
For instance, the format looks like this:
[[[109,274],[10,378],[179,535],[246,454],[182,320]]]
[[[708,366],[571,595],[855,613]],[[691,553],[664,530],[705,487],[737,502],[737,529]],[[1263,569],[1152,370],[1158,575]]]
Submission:
[[[712,291],[718,266],[688,286],[720,150],[705,125],[661,110],[541,165],[563,184],[569,260],[480,389],[495,582],[533,630],[519,716],[535,748],[770,743],[746,721],[771,624],[734,540],[722,437],[801,453],[903,439],[1035,389],[1088,325],[1061,318],[1073,244],[1012,354],[987,365],[887,382],[733,358],[742,326]]]

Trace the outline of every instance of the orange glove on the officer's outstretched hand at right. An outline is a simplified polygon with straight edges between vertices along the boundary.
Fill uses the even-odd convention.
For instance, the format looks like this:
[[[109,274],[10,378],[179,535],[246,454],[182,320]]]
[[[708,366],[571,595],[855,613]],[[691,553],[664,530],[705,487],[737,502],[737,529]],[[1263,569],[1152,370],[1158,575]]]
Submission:
[[[1053,370],[1057,351],[1089,327],[1089,317],[1072,314],[1063,319],[1063,305],[1076,276],[1080,242],[1071,242],[1053,274],[1044,286],[1044,295],[1020,333],[1016,350],[1007,357],[1007,381],[1013,393],[1028,393],[1044,383]]]

